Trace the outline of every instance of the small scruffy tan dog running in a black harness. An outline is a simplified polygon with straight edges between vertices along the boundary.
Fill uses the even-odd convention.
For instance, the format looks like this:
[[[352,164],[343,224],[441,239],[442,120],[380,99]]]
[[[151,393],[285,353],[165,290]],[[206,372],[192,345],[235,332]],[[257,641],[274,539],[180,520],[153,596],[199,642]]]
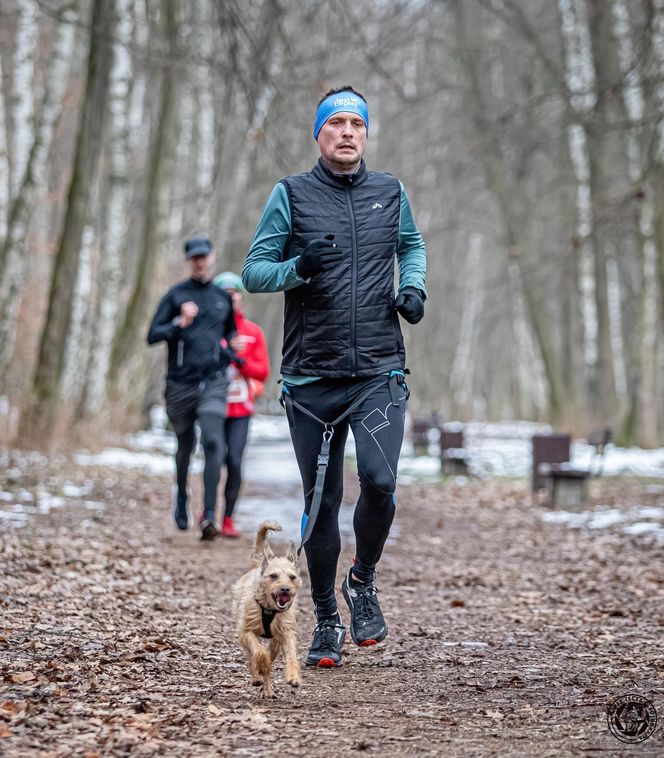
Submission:
[[[254,568],[233,585],[233,599],[240,642],[247,651],[251,683],[260,686],[259,697],[274,697],[270,685],[272,664],[281,653],[286,662],[286,681],[300,684],[297,659],[296,595],[300,577],[295,565],[293,542],[285,557],[276,557],[266,541],[268,532],[280,532],[274,521],[264,521],[256,533],[252,553]],[[264,645],[262,639],[269,640]]]

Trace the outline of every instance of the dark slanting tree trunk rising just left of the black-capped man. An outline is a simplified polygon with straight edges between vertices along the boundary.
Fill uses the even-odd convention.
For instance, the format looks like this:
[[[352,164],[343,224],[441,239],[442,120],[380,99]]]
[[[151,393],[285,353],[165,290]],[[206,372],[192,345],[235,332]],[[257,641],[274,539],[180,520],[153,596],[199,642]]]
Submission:
[[[136,279],[122,326],[116,333],[113,343],[109,369],[111,395],[115,394],[121,368],[133,347],[143,336],[141,329],[146,317],[154,262],[162,243],[165,193],[176,143],[174,132],[177,116],[177,79],[174,58],[178,34],[178,7],[178,0],[166,0],[162,9],[167,49],[163,64],[159,109],[152,122],[145,219],[141,247],[138,251]]]

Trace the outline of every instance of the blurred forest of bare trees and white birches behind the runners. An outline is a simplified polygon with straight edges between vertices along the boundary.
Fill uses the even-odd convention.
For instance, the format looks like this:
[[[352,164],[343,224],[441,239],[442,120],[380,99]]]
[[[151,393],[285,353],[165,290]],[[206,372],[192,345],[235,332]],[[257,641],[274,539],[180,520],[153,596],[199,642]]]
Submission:
[[[345,83],[429,253],[414,412],[662,442],[664,0],[0,0],[0,82],[0,411],[21,446],[140,423],[183,240],[241,270]],[[248,298],[273,379],[281,308]]]

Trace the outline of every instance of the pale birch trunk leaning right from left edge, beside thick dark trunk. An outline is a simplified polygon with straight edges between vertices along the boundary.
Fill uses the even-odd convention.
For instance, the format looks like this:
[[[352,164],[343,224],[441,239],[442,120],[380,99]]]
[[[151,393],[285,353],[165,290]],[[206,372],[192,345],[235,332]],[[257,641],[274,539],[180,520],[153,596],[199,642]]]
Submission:
[[[15,183],[6,235],[0,238],[0,386],[5,385],[14,348],[18,301],[27,269],[28,228],[34,211],[36,190],[45,180],[46,160],[53,129],[62,108],[62,98],[71,65],[70,52],[74,42],[75,19],[75,10],[67,4],[57,21],[49,73],[37,113],[32,146],[27,162],[22,164],[23,174],[20,183]],[[17,170],[15,166],[14,177]]]

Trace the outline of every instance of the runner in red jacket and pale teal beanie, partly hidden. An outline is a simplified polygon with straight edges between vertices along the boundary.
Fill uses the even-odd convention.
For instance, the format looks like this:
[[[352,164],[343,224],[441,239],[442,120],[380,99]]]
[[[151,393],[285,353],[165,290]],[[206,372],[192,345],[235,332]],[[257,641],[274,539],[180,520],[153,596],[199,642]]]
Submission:
[[[270,373],[270,359],[263,330],[244,316],[242,279],[231,271],[215,277],[214,283],[225,289],[233,299],[237,334],[231,347],[242,359],[228,368],[228,410],[224,420],[226,456],[225,514],[221,526],[223,537],[239,537],[233,525],[233,509],[242,483],[242,456],[247,444],[249,421],[255,410],[256,398],[263,394],[263,382]]]

